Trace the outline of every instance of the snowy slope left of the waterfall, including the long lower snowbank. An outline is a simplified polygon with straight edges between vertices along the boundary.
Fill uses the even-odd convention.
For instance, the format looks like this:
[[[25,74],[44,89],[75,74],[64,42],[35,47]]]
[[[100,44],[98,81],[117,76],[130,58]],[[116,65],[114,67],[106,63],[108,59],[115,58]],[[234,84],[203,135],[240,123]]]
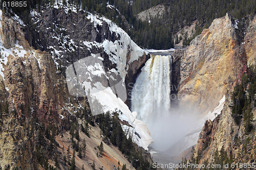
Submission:
[[[123,129],[129,129],[134,141],[147,149],[153,141],[150,132],[124,104],[127,97],[117,95],[126,95],[124,81],[127,72],[131,64],[139,62],[139,58],[147,52],[111,20],[71,5],[63,5],[62,1],[58,1],[58,4],[55,2],[52,8],[43,9],[40,13],[33,11],[31,16],[36,25],[35,31],[38,32],[38,40],[35,40],[38,47],[49,51],[58,67],[67,66],[73,77],[74,64],[78,79],[70,80],[70,83],[68,80],[69,88],[72,88],[74,82],[88,85],[89,88],[93,86],[90,96],[104,106],[104,112],[120,110],[121,120],[129,122],[129,125],[122,125]],[[91,59],[89,65],[87,57]],[[108,88],[117,83],[123,87],[121,90],[113,92]],[[69,91],[75,97],[84,95],[83,92],[78,95],[77,92],[71,92],[71,89]],[[76,112],[76,108],[67,103],[65,108],[70,113]]]

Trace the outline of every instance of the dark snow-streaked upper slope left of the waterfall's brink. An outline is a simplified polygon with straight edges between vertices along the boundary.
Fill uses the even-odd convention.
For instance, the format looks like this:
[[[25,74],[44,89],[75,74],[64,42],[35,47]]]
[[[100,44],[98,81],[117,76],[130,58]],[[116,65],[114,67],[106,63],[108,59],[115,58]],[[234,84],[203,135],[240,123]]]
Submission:
[[[31,12],[31,16],[35,25],[37,25],[36,31],[39,34],[40,32],[45,32],[46,38],[51,39],[46,44],[41,42],[40,39],[36,43],[53,54],[57,65],[61,61],[71,63],[100,53],[103,62],[108,62],[104,60],[109,60],[112,65],[115,65],[115,69],[118,70],[120,76],[124,79],[129,65],[133,61],[138,60],[144,53],[147,54],[125,31],[104,16],[99,17],[86,11],[77,10],[72,5],[65,6],[62,4],[62,1],[59,1],[58,4],[56,1],[53,8],[59,10],[58,19],[55,17],[44,18],[50,13],[52,14],[52,11],[47,9],[42,10],[40,13],[34,10]],[[72,11],[78,18],[71,23],[63,23],[62,17],[69,16],[68,11]],[[84,21],[83,18],[86,20]],[[49,21],[51,23],[48,23]],[[91,22],[91,25],[88,21]],[[73,56],[77,52],[79,54]],[[129,58],[127,58],[127,55],[129,55]],[[108,68],[105,69],[108,71]]]

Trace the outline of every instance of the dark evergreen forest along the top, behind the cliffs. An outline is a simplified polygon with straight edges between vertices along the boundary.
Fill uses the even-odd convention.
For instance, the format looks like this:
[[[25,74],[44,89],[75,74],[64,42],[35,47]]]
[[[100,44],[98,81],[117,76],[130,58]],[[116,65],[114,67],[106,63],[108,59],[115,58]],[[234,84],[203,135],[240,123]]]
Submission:
[[[20,1],[20,0],[19,0]],[[218,17],[227,12],[240,20],[239,28],[243,28],[256,13],[256,0],[58,0],[63,4],[73,4],[77,8],[102,14],[117,23],[132,39],[143,48],[168,49],[174,47],[180,38],[184,38],[183,45],[200,34],[204,28]],[[11,2],[7,0],[6,2]],[[15,13],[22,16],[25,22],[29,22],[29,11],[36,8],[40,10],[48,4],[54,4],[54,0],[32,0],[27,2],[27,7],[11,7]],[[117,10],[108,8],[113,5]],[[159,4],[164,4],[165,13],[162,18],[152,18],[151,22],[141,21],[136,15]],[[3,9],[3,1],[1,2]],[[6,11],[6,10],[5,10]],[[120,12],[120,13],[119,13]],[[174,35],[184,26],[190,26],[197,20],[194,34],[187,37],[175,37]],[[128,24],[127,24],[128,23]]]

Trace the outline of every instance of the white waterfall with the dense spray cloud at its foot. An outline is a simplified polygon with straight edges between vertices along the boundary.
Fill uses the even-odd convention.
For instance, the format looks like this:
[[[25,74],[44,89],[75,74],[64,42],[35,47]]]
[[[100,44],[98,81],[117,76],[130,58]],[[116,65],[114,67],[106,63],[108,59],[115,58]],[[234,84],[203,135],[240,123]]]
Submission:
[[[197,119],[191,111],[171,108],[171,77],[172,56],[151,56],[132,91],[131,109],[150,129],[155,141],[152,147],[159,151],[167,151],[177,143],[194,128]]]

